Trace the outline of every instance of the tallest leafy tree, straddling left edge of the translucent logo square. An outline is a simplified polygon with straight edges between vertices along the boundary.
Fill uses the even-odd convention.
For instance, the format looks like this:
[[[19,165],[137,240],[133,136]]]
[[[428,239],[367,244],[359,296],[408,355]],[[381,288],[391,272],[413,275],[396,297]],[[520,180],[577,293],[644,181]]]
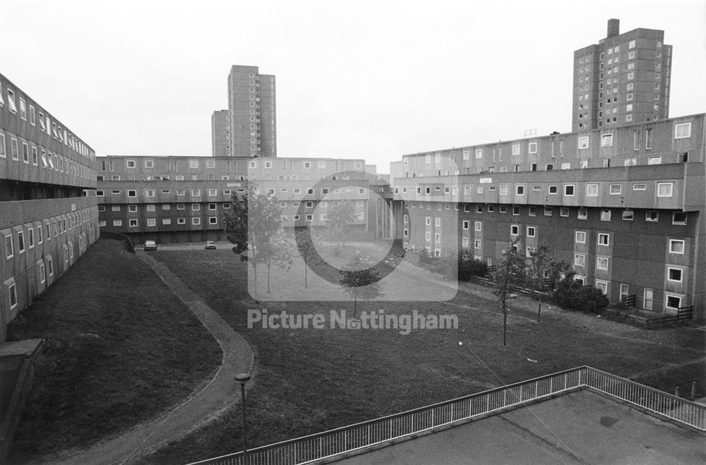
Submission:
[[[246,193],[234,194],[232,200],[231,212],[224,216],[226,237],[234,245],[233,252],[239,254],[241,260],[253,264],[257,289],[258,263],[268,260],[280,262],[281,255],[275,255],[273,241],[280,240],[282,209],[277,198],[268,193],[260,193],[256,183],[248,183]]]

